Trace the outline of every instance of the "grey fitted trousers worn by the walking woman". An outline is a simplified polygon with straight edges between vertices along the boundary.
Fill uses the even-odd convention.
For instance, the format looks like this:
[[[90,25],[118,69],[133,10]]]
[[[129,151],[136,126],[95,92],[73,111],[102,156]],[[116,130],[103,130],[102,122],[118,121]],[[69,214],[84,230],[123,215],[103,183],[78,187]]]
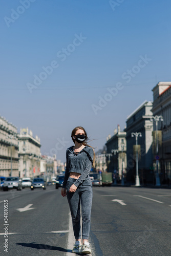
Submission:
[[[72,193],[69,192],[71,185],[76,181],[74,178],[68,178],[67,181],[67,199],[70,206],[73,230],[75,239],[81,239],[80,228],[80,202],[81,202],[81,215],[82,215],[82,239],[89,239],[90,233],[90,218],[92,208],[92,182],[90,177],[83,181],[77,187],[77,190]]]

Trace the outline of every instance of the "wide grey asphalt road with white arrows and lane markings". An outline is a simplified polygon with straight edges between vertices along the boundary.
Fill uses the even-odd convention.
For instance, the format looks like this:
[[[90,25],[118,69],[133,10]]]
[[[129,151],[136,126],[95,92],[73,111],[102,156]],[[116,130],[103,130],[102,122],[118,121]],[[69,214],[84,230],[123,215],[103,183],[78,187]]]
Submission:
[[[92,256],[170,256],[170,199],[170,189],[94,187]],[[8,200],[8,223],[4,200]],[[69,206],[60,188],[0,191],[0,220],[1,255],[74,255]],[[5,230],[8,252],[3,247]]]

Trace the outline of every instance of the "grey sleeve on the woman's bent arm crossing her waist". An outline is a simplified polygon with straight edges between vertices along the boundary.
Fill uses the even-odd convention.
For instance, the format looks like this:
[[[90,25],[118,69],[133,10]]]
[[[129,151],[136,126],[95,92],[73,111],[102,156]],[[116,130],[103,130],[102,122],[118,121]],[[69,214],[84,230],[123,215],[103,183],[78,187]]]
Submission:
[[[78,187],[84,180],[87,179],[87,177],[90,174],[91,168],[92,168],[92,162],[93,162],[94,152],[93,148],[90,147],[88,156],[86,158],[86,164],[83,170],[83,173],[79,176],[79,178],[74,182],[74,185]]]

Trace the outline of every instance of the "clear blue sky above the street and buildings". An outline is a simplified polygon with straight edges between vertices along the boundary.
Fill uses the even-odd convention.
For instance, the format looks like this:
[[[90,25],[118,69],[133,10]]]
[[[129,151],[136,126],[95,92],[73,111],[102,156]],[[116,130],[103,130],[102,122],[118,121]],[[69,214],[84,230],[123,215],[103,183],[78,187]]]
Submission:
[[[67,143],[58,144],[57,159],[65,161],[77,125],[96,150],[102,148],[117,124],[123,130],[126,117],[153,100],[157,82],[171,80],[170,1],[114,2],[3,1],[0,113],[18,132],[29,127],[38,135],[42,154],[63,138]],[[141,61],[145,56],[151,60]],[[49,74],[41,73],[51,64]],[[37,86],[40,74],[46,79]],[[108,88],[118,82],[121,90],[111,96]],[[99,97],[108,102],[100,106]]]

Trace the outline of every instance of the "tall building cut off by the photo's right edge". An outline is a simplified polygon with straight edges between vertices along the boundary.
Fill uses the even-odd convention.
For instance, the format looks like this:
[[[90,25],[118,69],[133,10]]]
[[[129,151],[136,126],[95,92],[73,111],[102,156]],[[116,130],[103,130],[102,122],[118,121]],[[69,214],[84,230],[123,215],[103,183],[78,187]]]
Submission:
[[[162,145],[159,143],[159,173],[162,184],[171,184],[171,81],[159,82],[153,88],[153,116],[162,116],[154,130],[162,132]],[[154,154],[154,167],[156,159]]]

